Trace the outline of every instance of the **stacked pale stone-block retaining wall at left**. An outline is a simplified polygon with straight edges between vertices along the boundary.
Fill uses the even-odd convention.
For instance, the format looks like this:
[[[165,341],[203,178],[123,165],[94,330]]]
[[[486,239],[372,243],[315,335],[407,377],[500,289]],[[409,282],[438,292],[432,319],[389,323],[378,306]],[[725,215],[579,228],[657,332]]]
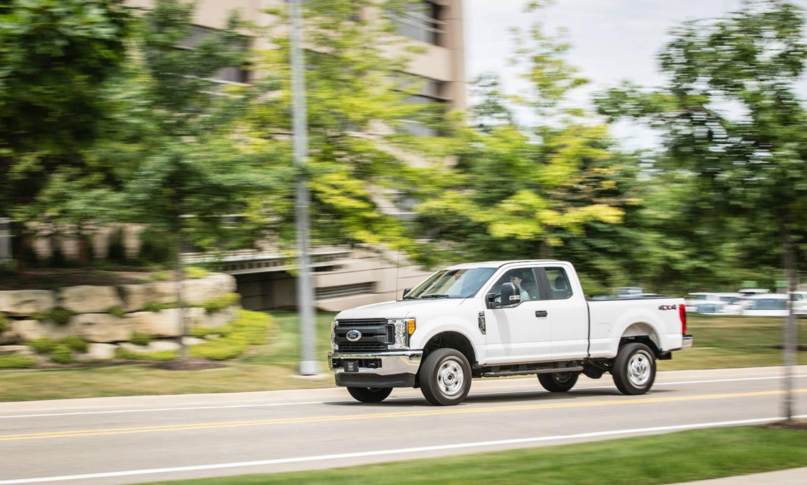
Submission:
[[[182,283],[186,325],[217,328],[236,319],[240,305],[217,308],[217,299],[236,292],[233,276],[214,273]],[[57,291],[15,290],[0,292],[0,355],[33,356],[26,342],[77,336],[89,343],[85,360],[112,359],[119,347],[149,353],[178,348],[182,333],[174,282],[121,286],[71,286]],[[203,308],[206,306],[207,309]],[[146,311],[152,309],[153,311]],[[5,315],[5,317],[2,317]],[[128,343],[134,333],[155,340],[147,346]],[[160,341],[171,338],[171,341]],[[199,339],[186,338],[187,344]],[[199,341],[201,342],[201,341]]]

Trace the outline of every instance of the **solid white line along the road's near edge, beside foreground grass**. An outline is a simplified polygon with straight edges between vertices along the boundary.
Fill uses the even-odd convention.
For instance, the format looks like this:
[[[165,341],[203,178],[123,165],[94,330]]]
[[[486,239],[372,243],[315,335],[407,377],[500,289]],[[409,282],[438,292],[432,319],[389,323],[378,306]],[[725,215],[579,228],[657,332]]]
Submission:
[[[807,417],[807,414],[803,414],[796,417],[797,418]],[[587,438],[587,437],[602,437],[602,436],[613,436],[618,434],[653,433],[657,431],[675,431],[679,429],[713,428],[717,426],[732,426],[732,425],[751,425],[767,421],[777,421],[780,419],[783,418],[762,417],[756,419],[744,419],[737,421],[714,421],[711,423],[695,423],[689,425],[655,426],[653,428],[613,429],[611,431],[596,431],[593,433],[522,437],[509,440],[495,440],[495,441],[475,441],[470,443],[455,443],[453,445],[417,446],[415,448],[399,448],[397,450],[375,450],[375,451],[359,451],[356,453],[320,454],[315,456],[301,456],[295,458],[276,458],[272,460],[258,460],[254,462],[215,463],[211,465],[194,465],[194,466],[172,466],[169,468],[150,468],[145,470],[109,471],[105,473],[86,473],[82,475],[63,475],[56,477],[37,477],[32,479],[0,480],[0,485],[12,485],[16,483],[64,482],[67,480],[82,480],[82,479],[104,479],[110,477],[152,475],[156,473],[172,473],[178,471],[219,470],[223,468],[240,468],[245,466],[280,465],[283,463],[320,462],[324,460],[335,460],[340,458],[362,458],[362,457],[380,456],[386,454],[418,453],[421,451],[458,450],[462,448],[475,448],[479,446],[514,445],[519,443],[557,441],[557,440]]]

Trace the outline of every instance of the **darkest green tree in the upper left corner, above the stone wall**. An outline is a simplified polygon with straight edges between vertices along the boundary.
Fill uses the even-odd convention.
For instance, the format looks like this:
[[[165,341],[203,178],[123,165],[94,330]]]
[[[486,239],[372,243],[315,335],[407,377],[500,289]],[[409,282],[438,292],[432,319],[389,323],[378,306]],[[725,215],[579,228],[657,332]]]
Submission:
[[[109,121],[108,87],[131,31],[123,0],[2,3],[0,213],[22,223],[47,219],[58,210],[52,194],[43,196],[54,177],[92,170],[80,152]]]

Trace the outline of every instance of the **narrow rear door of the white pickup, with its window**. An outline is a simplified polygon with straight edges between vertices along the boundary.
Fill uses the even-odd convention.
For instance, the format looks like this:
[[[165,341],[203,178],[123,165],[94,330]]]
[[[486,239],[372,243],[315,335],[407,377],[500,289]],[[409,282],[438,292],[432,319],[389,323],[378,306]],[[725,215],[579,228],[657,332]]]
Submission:
[[[583,359],[588,356],[588,304],[582,288],[572,284],[562,266],[537,268],[538,283],[550,301],[552,360]]]

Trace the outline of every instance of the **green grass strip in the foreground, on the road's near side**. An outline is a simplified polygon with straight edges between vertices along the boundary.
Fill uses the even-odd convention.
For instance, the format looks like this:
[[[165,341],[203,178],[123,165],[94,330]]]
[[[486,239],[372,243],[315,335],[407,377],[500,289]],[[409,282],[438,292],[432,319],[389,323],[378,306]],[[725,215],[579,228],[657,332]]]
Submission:
[[[757,427],[679,433],[173,485],[407,483],[655,485],[807,466],[807,432]],[[162,482],[165,483],[165,482]]]

